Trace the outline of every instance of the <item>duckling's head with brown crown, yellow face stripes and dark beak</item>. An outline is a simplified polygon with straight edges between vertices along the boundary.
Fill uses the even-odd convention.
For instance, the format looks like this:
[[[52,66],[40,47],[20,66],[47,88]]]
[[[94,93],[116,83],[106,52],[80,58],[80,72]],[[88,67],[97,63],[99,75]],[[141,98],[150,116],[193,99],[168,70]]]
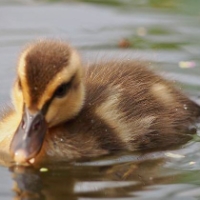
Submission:
[[[13,88],[13,103],[21,118],[10,146],[16,162],[35,157],[48,128],[80,111],[82,71],[77,52],[60,41],[39,41],[22,52]]]

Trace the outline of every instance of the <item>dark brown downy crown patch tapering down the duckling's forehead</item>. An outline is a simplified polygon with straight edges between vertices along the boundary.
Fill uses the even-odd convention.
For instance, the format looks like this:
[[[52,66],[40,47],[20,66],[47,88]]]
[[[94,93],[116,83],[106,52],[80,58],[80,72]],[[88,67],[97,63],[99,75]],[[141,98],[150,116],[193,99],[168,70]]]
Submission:
[[[51,41],[48,46],[37,43],[26,56],[26,74],[32,104],[37,104],[48,83],[55,74],[68,65],[70,49],[65,43],[56,45]],[[49,70],[51,69],[51,70]],[[41,81],[42,80],[42,81]]]

